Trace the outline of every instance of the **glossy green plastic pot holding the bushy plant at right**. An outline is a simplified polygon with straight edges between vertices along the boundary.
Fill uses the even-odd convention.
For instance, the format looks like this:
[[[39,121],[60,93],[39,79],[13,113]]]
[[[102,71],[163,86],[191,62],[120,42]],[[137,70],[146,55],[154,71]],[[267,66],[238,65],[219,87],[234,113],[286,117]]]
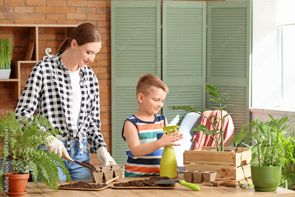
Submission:
[[[281,182],[282,167],[251,165],[251,177],[255,191],[276,191]]]

